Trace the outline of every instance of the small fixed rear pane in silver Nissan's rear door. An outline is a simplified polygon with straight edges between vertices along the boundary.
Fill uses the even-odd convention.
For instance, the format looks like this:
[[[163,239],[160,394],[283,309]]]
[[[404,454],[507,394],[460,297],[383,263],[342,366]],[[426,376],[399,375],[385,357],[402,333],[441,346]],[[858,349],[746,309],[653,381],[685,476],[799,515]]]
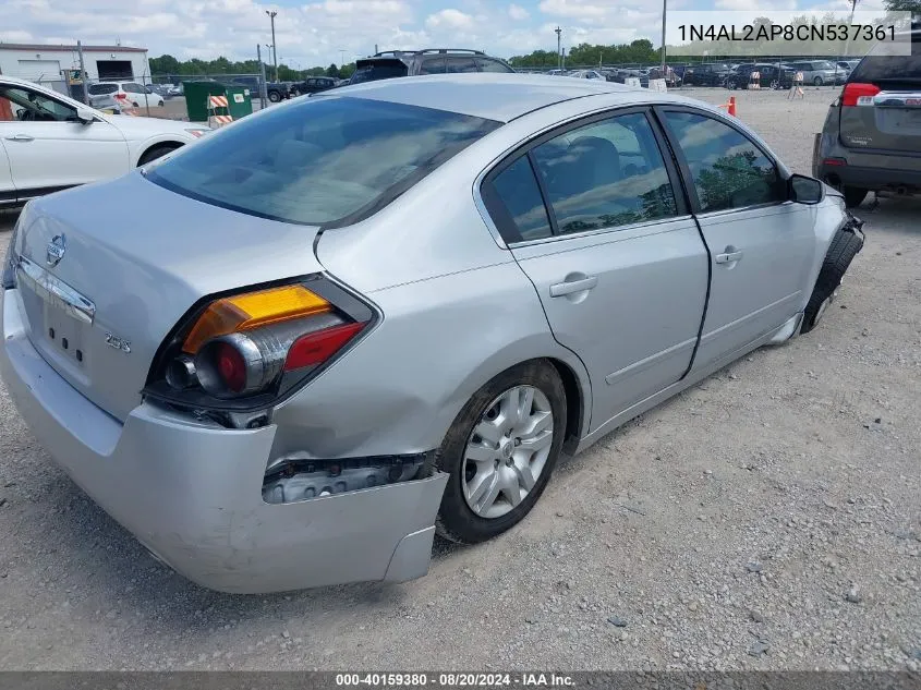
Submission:
[[[487,182],[483,197],[506,242],[542,240],[553,234],[547,208],[526,155]]]

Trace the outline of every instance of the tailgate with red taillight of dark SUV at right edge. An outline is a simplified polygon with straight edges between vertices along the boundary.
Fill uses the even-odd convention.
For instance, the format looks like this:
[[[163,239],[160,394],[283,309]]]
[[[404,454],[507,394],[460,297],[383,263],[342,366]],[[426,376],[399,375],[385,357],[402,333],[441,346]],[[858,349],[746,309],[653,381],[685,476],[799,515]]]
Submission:
[[[916,165],[899,167],[921,170],[921,32],[912,36],[911,55],[874,50],[855,68],[845,85],[839,117],[846,146],[906,158],[917,154]]]

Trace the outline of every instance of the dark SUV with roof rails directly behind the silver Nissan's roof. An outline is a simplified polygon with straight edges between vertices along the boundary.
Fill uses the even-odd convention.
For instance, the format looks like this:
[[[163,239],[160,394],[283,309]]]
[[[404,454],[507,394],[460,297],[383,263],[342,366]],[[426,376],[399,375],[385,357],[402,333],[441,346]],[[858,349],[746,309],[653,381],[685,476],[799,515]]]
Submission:
[[[350,84],[374,82],[420,74],[461,72],[514,72],[505,61],[480,50],[429,48],[426,50],[386,50],[355,61]]]

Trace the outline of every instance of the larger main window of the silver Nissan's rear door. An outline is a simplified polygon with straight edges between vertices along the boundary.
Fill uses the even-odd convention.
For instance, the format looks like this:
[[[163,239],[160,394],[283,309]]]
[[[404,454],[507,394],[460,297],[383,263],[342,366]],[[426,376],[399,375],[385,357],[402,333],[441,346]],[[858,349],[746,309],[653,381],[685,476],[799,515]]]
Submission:
[[[631,113],[570,130],[533,150],[561,234],[676,215],[652,126]]]

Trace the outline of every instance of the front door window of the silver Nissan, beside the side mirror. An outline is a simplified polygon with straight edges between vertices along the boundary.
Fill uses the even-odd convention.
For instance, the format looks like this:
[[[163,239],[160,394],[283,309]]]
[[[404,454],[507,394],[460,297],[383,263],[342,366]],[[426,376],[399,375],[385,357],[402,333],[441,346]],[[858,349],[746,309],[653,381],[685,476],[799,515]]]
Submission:
[[[665,118],[688,161],[701,210],[785,201],[774,161],[738,130],[692,112],[666,112]]]

